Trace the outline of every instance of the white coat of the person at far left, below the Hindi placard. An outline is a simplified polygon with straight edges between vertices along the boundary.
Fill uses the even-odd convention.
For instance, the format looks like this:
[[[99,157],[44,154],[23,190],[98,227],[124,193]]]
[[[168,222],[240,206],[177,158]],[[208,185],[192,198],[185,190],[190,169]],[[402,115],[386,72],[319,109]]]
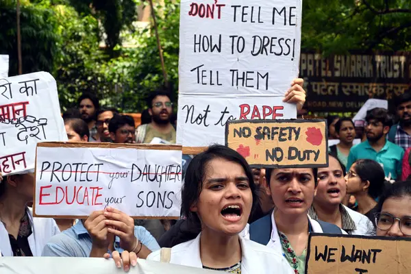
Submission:
[[[58,225],[51,218],[35,218],[32,209],[27,209],[29,213],[30,225],[32,225],[32,235],[29,236],[29,246],[33,256],[41,256],[42,249],[49,239],[55,234],[60,233]],[[13,256],[12,247],[8,232],[0,221],[0,250],[3,256]]]

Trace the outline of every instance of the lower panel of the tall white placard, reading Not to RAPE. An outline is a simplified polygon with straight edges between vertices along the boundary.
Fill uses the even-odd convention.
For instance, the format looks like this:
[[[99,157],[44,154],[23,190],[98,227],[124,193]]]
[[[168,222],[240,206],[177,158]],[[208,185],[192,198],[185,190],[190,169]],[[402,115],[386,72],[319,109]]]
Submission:
[[[177,142],[184,147],[208,147],[225,143],[225,124],[237,119],[295,119],[295,105],[282,97],[208,95],[179,97]]]

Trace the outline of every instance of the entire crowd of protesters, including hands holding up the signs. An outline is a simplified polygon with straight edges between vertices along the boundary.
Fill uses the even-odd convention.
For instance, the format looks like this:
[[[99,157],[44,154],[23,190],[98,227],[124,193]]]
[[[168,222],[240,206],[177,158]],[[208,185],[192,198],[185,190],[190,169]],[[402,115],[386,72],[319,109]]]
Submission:
[[[286,101],[303,105],[301,79]],[[166,92],[148,99],[149,121],[99,108],[88,93],[63,114],[69,142],[175,143],[172,105]],[[278,273],[304,273],[311,232],[411,236],[411,92],[399,97],[397,116],[369,110],[362,139],[353,146],[351,119],[329,123],[329,165],[319,169],[251,169],[237,151],[213,145],[184,155],[182,219],[134,221],[108,207],[87,219],[32,216],[34,173],[1,178],[2,256],[114,258],[128,271],[137,258],[241,273],[275,265]],[[390,131],[395,131],[388,140]],[[399,182],[399,181],[403,182]],[[394,182],[395,181],[395,182]],[[264,247],[265,246],[265,247]],[[166,251],[164,251],[166,252]],[[120,257],[121,256],[121,257]],[[245,260],[247,258],[247,260]],[[121,260],[122,259],[122,260]]]

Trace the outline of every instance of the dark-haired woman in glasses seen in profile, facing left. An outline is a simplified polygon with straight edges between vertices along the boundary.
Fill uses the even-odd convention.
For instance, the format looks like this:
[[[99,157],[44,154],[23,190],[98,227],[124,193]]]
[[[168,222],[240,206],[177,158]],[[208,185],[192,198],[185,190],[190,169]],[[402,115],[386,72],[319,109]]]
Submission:
[[[358,160],[351,165],[345,182],[347,194],[356,197],[357,211],[367,216],[375,227],[376,200],[385,188],[384,169],[374,160]]]

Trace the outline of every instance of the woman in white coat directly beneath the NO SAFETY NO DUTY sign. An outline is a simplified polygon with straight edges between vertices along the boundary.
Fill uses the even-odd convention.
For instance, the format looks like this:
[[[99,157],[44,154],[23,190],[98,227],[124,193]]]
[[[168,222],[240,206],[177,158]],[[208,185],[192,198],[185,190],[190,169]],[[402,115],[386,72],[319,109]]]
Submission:
[[[317,169],[266,169],[272,214],[251,223],[249,237],[283,253],[295,274],[306,273],[306,252],[311,232],[342,234],[339,227],[310,219],[317,185]]]

